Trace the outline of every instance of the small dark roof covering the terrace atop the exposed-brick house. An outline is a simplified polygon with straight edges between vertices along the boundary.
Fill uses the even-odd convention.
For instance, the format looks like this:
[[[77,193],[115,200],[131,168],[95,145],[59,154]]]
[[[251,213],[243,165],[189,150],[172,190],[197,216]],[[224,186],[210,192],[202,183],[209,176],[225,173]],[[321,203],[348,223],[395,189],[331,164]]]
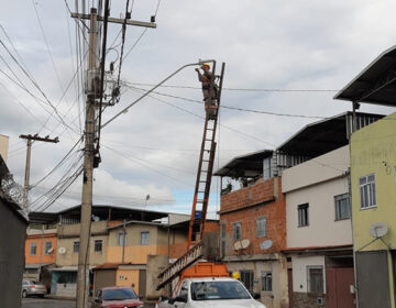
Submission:
[[[263,174],[263,160],[273,155],[273,150],[262,150],[234,157],[231,162],[218,169],[217,176],[254,177]]]

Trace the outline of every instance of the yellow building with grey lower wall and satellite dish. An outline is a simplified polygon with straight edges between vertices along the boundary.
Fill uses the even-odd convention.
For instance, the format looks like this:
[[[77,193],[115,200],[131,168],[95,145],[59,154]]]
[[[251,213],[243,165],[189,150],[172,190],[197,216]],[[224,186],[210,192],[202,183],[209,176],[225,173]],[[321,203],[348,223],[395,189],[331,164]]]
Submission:
[[[396,113],[351,136],[353,242],[360,308],[395,308]]]

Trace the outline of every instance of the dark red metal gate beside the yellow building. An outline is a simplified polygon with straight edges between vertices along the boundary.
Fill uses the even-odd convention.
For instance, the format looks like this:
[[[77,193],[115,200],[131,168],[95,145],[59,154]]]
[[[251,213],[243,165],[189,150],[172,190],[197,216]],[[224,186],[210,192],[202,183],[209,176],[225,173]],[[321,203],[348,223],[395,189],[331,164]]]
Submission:
[[[354,285],[353,268],[326,268],[326,307],[356,307],[351,285]]]

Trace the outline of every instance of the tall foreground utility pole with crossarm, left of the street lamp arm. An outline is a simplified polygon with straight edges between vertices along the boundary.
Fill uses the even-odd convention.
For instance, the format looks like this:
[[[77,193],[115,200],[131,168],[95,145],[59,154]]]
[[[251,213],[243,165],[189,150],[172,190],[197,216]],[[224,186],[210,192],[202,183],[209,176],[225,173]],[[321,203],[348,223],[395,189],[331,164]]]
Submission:
[[[88,74],[87,74],[87,102],[86,102],[86,123],[85,123],[85,153],[84,153],[84,178],[81,193],[81,218],[80,218],[80,241],[78,254],[78,276],[77,276],[77,308],[88,307],[88,290],[89,290],[89,238],[91,227],[91,207],[92,207],[92,180],[96,148],[95,142],[96,133],[100,130],[100,124],[96,131],[96,109],[101,111],[102,88],[103,88],[103,66],[106,55],[106,36],[103,37],[103,56],[101,68],[98,69],[97,62],[97,43],[98,43],[98,21],[107,23],[121,23],[145,28],[156,28],[154,22],[138,22],[125,19],[109,18],[109,0],[105,3],[105,16],[98,15],[96,8],[91,8],[90,14],[72,13],[72,18],[90,20],[89,25],[89,56],[88,56]],[[102,70],[102,72],[99,72]],[[99,74],[101,73],[101,74]],[[97,143],[99,143],[97,141]],[[97,144],[99,148],[99,144]],[[95,166],[94,166],[95,165]]]

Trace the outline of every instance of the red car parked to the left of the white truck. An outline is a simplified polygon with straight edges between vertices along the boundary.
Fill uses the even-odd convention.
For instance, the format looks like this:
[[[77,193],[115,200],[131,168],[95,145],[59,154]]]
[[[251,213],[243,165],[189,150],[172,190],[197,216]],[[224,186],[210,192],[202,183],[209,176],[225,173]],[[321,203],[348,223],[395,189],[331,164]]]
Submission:
[[[143,308],[143,302],[139,299],[132,288],[129,287],[106,287],[97,293],[92,300],[92,308]]]

